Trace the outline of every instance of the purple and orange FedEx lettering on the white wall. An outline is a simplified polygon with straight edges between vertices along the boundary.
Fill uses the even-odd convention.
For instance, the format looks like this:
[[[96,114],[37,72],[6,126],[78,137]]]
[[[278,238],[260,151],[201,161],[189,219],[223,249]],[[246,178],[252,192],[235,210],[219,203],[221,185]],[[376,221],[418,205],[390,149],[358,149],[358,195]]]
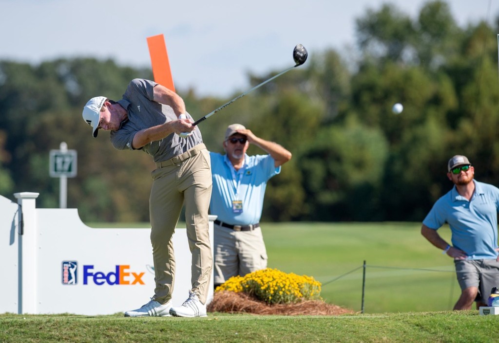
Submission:
[[[88,285],[89,282],[98,286],[107,283],[108,285],[145,285],[142,281],[144,272],[134,273],[129,272],[129,265],[117,265],[114,271],[104,273],[95,271],[93,265],[83,266],[83,285]]]

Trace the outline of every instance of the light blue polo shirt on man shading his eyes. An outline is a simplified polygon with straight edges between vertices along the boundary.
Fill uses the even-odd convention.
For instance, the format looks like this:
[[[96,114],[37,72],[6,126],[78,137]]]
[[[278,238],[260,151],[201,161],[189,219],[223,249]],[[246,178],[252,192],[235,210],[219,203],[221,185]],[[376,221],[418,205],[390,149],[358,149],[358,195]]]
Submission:
[[[267,181],[280,172],[270,155],[245,155],[239,171],[227,155],[210,152],[212,165],[212,198],[210,213],[233,225],[250,225],[260,221]],[[235,213],[233,201],[242,201],[242,211]]]

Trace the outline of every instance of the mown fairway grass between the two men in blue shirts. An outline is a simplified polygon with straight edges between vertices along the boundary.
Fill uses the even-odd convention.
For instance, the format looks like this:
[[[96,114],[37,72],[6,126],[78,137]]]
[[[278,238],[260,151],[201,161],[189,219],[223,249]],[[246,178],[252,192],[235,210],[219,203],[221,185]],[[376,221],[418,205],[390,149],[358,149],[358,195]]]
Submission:
[[[365,260],[365,313],[452,310],[461,294],[454,262],[420,229],[406,222],[262,223],[268,267],[313,276],[328,303],[361,311]],[[439,233],[450,242],[448,227]]]

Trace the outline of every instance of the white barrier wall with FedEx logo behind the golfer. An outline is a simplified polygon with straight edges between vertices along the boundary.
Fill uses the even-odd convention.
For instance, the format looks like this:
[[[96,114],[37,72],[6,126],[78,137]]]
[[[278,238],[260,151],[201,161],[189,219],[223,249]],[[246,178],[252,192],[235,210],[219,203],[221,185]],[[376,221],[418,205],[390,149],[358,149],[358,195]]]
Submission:
[[[30,200],[23,198],[26,194]],[[15,229],[17,204],[7,204],[0,197],[0,213],[9,211],[0,217],[4,241],[9,242],[6,249],[0,248],[0,257],[13,260],[7,264],[6,280],[21,280],[1,284],[0,313],[106,315],[149,301],[155,287],[150,228],[91,228],[81,221],[77,209],[36,209],[34,194],[38,195],[16,193],[24,218],[22,235]],[[212,246],[215,218],[210,216]],[[172,303],[179,306],[192,287],[185,228],[175,230],[173,244]],[[213,299],[213,275],[208,299]]]

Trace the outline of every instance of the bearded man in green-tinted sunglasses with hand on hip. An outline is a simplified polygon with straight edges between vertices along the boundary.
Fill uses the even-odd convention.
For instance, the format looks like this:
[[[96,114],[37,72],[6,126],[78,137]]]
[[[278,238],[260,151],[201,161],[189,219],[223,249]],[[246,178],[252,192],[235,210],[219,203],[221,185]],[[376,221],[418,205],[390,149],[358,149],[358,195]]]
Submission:
[[[466,156],[454,156],[447,169],[454,187],[433,205],[421,234],[454,258],[462,291],[454,310],[470,310],[474,301],[479,309],[499,285],[499,189],[474,180],[475,169]],[[452,245],[437,233],[446,222]]]

